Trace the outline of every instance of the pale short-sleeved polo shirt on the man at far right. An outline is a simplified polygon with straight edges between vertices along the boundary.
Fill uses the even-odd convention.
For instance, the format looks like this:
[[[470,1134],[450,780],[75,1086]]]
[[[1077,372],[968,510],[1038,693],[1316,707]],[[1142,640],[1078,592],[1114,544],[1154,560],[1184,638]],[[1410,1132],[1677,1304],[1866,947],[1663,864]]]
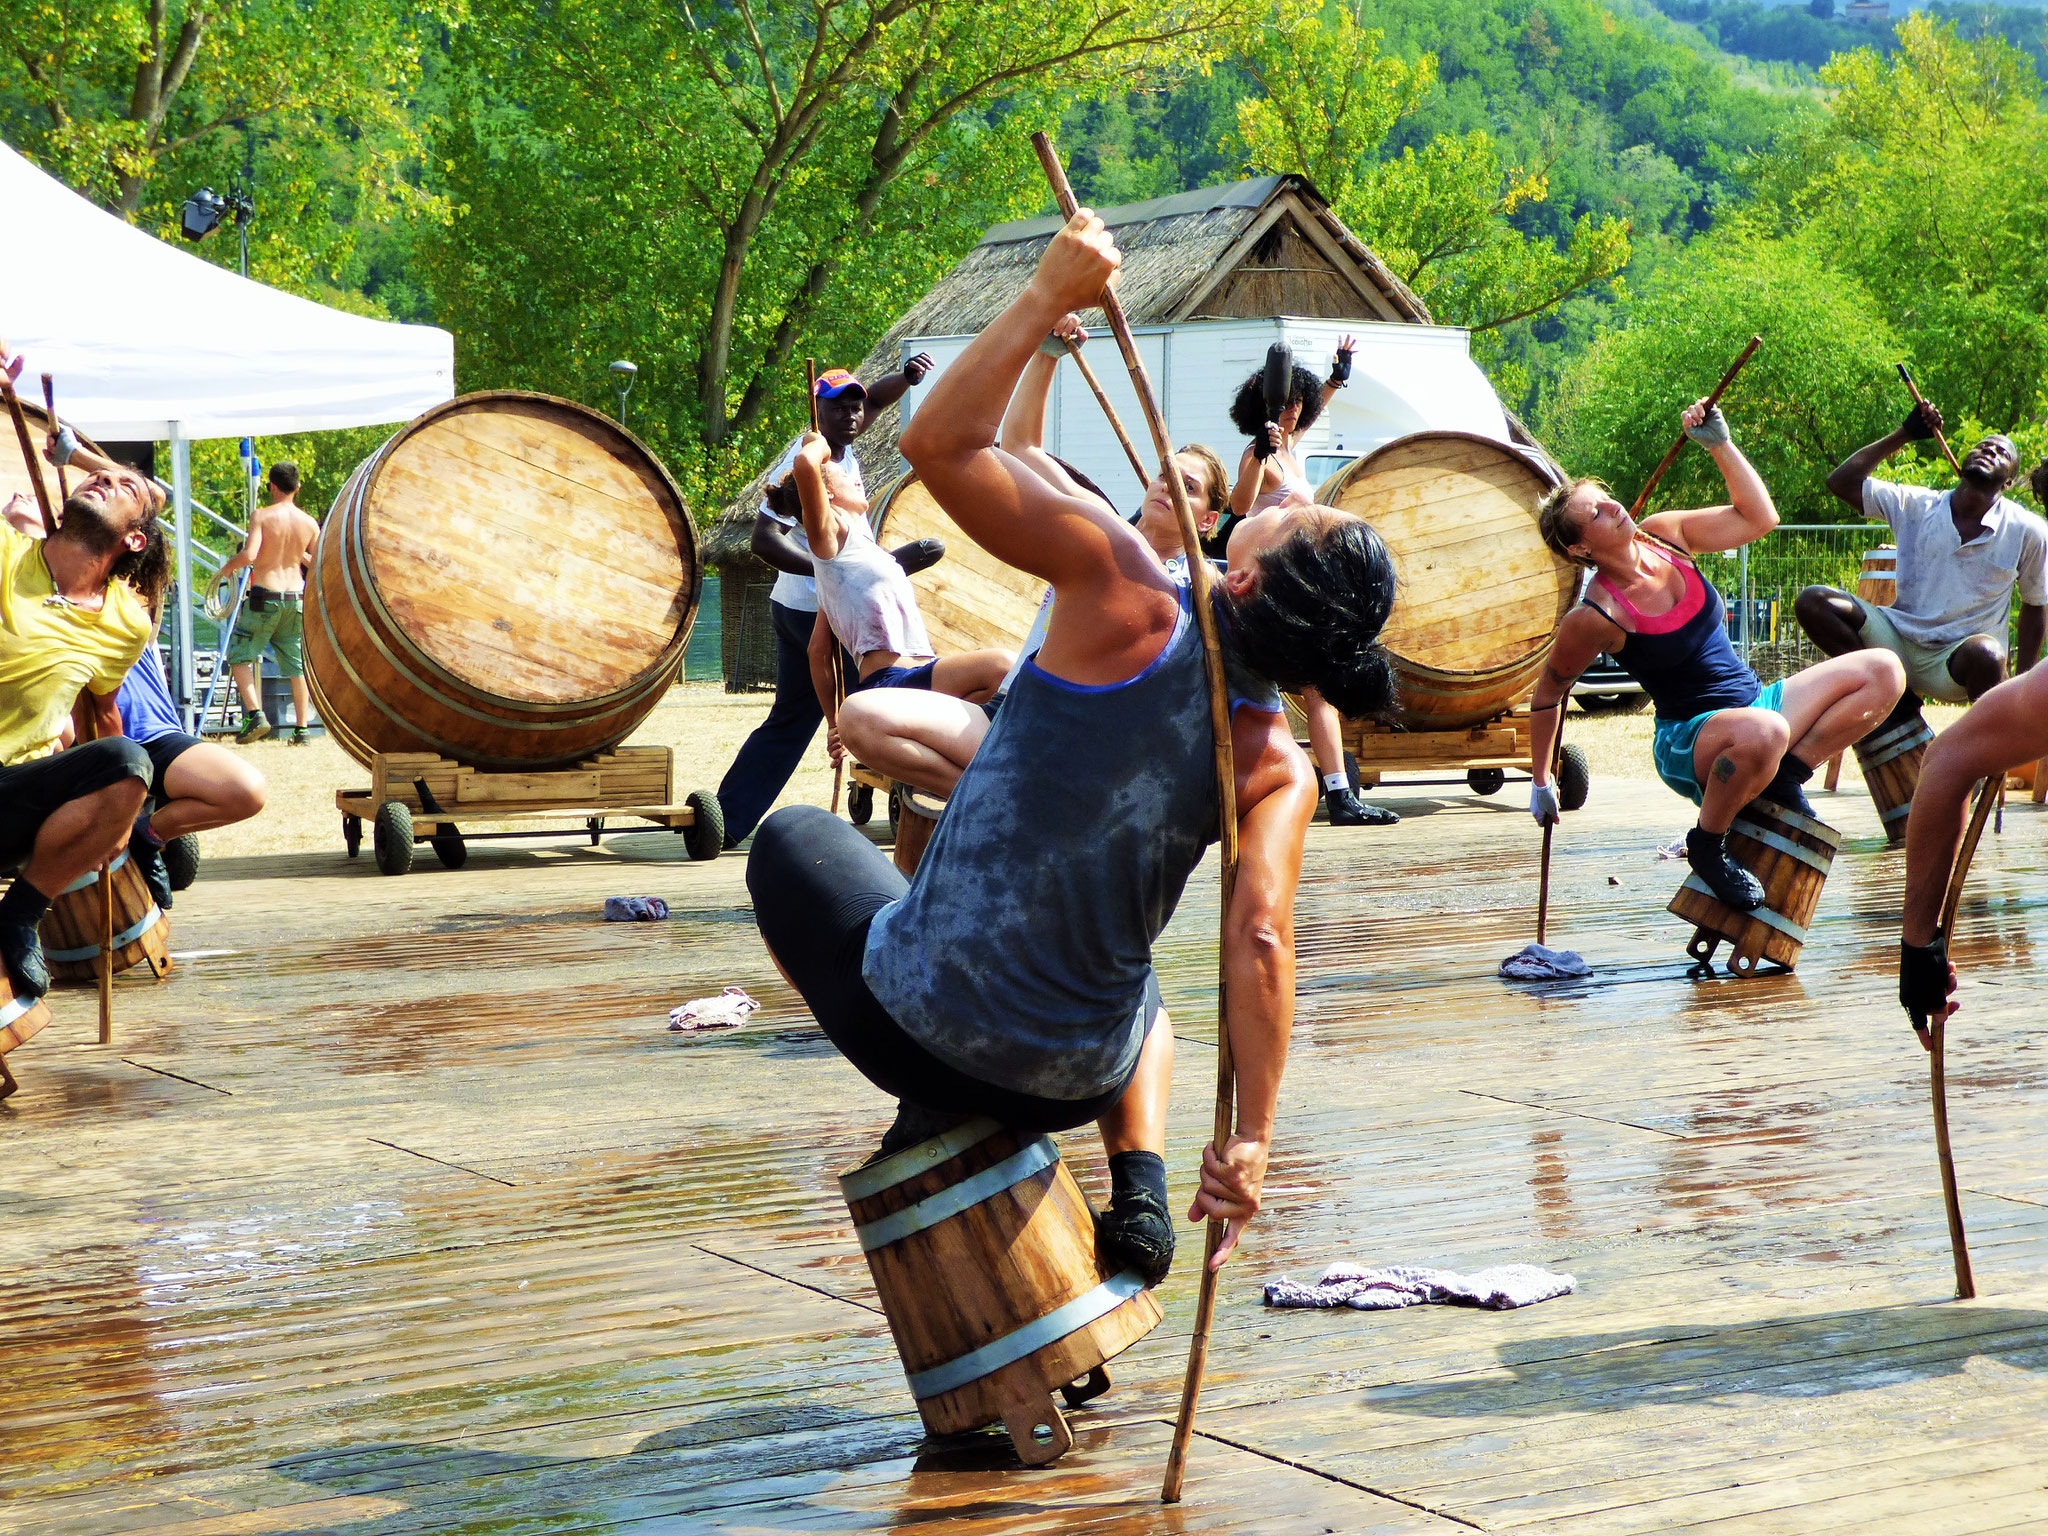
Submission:
[[[2048,604],[2048,522],[2001,496],[1985,530],[1962,543],[1952,498],[1925,485],[1864,481],[1864,514],[1888,522],[1898,545],[1898,596],[1886,618],[1919,645],[1991,635],[2005,649],[2013,588],[2030,606]]]

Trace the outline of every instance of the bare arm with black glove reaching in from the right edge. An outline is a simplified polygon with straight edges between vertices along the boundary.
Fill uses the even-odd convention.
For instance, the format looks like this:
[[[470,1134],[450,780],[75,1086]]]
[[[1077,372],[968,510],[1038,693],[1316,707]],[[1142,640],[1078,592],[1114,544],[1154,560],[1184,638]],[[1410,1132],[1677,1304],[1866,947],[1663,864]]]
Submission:
[[[1970,793],[1993,774],[2048,758],[2048,668],[1987,692],[1927,748],[1907,817],[1907,899],[1898,942],[1898,1006],[1927,1044],[1929,1020],[1956,1012],[1942,899],[1962,844]]]

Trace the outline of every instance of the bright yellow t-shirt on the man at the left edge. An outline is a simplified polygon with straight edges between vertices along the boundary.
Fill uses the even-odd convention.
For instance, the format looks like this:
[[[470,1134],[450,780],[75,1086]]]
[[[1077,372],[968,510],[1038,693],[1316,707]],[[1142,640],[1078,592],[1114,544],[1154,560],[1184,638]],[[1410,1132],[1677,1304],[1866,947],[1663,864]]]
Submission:
[[[55,752],[78,690],[117,692],[156,635],[127,582],[96,612],[55,592],[43,541],[0,522],[0,764]]]

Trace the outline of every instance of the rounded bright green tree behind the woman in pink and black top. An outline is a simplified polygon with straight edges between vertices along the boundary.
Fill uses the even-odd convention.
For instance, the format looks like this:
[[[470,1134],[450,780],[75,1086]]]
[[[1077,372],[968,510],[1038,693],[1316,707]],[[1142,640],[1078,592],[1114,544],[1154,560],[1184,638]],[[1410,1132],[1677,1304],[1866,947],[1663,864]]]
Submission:
[[[1892,365],[1898,336],[1855,283],[1800,242],[1704,236],[1661,266],[1559,381],[1542,430],[1569,473],[1599,475],[1634,498],[1753,332],[1763,346],[1726,395],[1743,453],[1788,522],[1839,522],[1827,471],[1890,430],[1905,408]],[[1702,453],[1679,455],[1653,508],[1706,506],[1722,494]]]

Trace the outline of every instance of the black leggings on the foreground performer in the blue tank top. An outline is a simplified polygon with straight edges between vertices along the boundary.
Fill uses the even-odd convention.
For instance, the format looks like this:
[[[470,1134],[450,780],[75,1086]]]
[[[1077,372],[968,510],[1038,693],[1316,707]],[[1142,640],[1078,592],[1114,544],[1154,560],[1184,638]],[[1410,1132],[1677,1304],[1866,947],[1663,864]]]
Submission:
[[[754,834],[754,922],[840,1055],[891,1098],[987,1114],[1020,1130],[1071,1130],[1116,1104],[1128,1077],[1079,1100],[1016,1094],[948,1067],[889,1018],[860,975],[860,956],[874,913],[907,885],[862,831],[817,805],[788,805]]]

